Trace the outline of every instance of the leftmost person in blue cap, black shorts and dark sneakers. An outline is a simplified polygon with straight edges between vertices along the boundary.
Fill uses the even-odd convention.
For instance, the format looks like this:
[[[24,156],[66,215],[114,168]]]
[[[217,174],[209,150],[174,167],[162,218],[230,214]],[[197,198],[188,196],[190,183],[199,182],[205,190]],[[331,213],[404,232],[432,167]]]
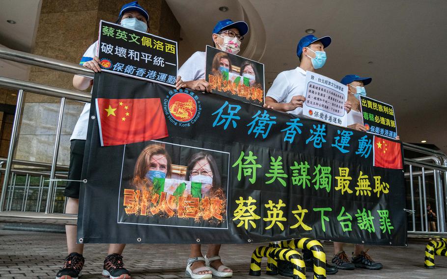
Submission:
[[[116,23],[123,27],[139,30],[142,32],[149,31],[149,14],[144,10],[138,1],[125,4],[119,11]],[[98,41],[93,43],[84,53],[80,64],[84,67],[100,72],[99,58],[96,56],[98,50]],[[73,86],[79,90],[87,89],[93,80],[83,76],[74,76]],[[68,182],[65,187],[64,195],[67,204],[65,213],[78,214],[79,207],[79,191],[81,171],[84,161],[84,148],[87,139],[88,117],[90,114],[90,103],[86,103],[83,111],[76,123],[73,134],[70,138],[70,166],[68,171]],[[77,279],[84,267],[84,244],[76,244],[77,226],[65,226],[67,237],[68,256],[65,258],[63,268],[56,274],[56,279]],[[102,275],[111,279],[130,279],[129,271],[124,267],[121,256],[125,244],[110,244],[108,256],[104,260]]]

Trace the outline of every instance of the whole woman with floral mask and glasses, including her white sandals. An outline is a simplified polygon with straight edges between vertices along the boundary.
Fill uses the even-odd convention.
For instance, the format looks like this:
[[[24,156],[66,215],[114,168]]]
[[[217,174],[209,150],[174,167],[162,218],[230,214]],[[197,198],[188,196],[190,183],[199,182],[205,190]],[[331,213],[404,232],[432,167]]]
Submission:
[[[233,22],[225,19],[217,23],[213,29],[214,46],[222,51],[237,54],[239,53],[244,35],[249,31],[248,25],[243,21]],[[205,52],[194,53],[178,70],[176,87],[191,88],[193,90],[201,90],[210,92],[210,84],[205,81]],[[185,81],[185,82],[184,82]],[[219,255],[220,244],[208,246],[207,258],[216,259],[210,263],[210,269],[205,265],[205,258],[202,256],[199,244],[191,245],[190,258],[188,259],[187,274],[193,279],[207,279],[214,276],[221,278],[232,277],[233,271],[223,265]],[[215,271],[219,273],[216,273]]]

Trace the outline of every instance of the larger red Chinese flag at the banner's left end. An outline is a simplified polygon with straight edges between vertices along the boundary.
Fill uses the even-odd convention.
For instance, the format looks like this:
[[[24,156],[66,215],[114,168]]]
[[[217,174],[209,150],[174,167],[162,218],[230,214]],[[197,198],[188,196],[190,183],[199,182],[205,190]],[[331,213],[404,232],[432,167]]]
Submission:
[[[101,146],[168,137],[159,98],[96,99]]]

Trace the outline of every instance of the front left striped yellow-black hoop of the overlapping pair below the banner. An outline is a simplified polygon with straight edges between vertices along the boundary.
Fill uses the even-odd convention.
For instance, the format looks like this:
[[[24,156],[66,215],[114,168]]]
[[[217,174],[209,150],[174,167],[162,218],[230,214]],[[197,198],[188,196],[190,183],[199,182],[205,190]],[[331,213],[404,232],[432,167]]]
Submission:
[[[306,266],[298,251],[293,249],[276,248],[271,245],[256,248],[251,254],[250,275],[261,275],[261,260],[263,257],[273,260],[286,260],[293,264],[292,279],[306,279]],[[270,261],[273,263],[273,261]],[[272,274],[273,275],[273,274]]]

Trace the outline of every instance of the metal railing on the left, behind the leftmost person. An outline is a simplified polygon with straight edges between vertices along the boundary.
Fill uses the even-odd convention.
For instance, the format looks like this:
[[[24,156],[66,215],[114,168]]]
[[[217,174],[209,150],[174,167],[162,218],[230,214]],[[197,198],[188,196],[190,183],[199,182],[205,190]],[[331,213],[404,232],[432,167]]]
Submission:
[[[94,76],[93,71],[77,64],[67,63],[43,56],[31,55],[4,47],[0,47],[0,58],[91,78],[93,78]],[[82,91],[60,88],[45,84],[37,84],[29,81],[22,81],[7,77],[0,77],[0,86],[19,90],[17,94],[17,105],[13,120],[8,157],[0,158],[0,172],[3,174],[3,184],[0,195],[0,213],[2,211],[11,211],[13,209],[13,201],[15,199],[19,199],[19,202],[16,204],[16,208],[14,208],[15,210],[20,210],[22,212],[28,211],[28,197],[30,195],[30,191],[33,192],[33,195],[34,192],[37,191],[37,195],[35,195],[35,208],[33,208],[34,212],[41,211],[42,201],[45,200],[45,213],[53,213],[55,210],[57,192],[58,190],[59,192],[60,190],[63,190],[63,188],[61,187],[58,188],[58,181],[55,181],[54,179],[66,179],[68,173],[67,166],[57,165],[57,156],[59,151],[63,114],[65,110],[65,101],[66,99],[69,99],[80,102],[90,102],[91,96],[90,94]],[[18,128],[20,126],[20,119],[22,116],[24,91],[60,98],[59,115],[55,131],[56,139],[54,143],[54,152],[51,164],[14,160],[14,153],[18,140]],[[32,185],[32,178],[38,178],[39,183],[37,185]],[[18,180],[21,180],[21,182],[17,183]],[[45,192],[46,195],[44,195]],[[17,196],[17,193],[20,193],[22,195],[22,198],[15,198]],[[21,204],[20,200],[22,201]],[[64,212],[64,209],[65,199],[63,200],[62,210],[60,210],[59,208],[58,211]],[[23,215],[21,215],[21,217],[23,217]]]

